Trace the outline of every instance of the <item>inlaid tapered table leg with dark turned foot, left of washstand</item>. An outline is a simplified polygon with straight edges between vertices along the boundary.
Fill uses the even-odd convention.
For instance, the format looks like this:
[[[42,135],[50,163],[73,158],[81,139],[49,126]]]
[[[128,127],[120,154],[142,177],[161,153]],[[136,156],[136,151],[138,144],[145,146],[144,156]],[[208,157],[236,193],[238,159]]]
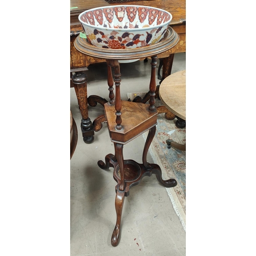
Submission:
[[[74,83],[76,97],[82,115],[81,131],[83,141],[90,144],[94,141],[94,131],[91,119],[88,116],[87,80],[87,75],[81,71],[75,72],[75,74],[72,76],[72,82]]]

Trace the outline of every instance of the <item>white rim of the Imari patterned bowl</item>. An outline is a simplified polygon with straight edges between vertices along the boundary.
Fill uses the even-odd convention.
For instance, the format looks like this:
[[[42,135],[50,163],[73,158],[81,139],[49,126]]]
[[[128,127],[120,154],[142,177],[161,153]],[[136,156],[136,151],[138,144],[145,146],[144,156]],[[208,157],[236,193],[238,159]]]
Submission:
[[[156,25],[154,27],[145,27],[145,28],[133,28],[134,30],[148,30],[148,29],[152,29],[152,28],[158,28],[158,27],[161,27],[161,26],[165,26],[166,24],[170,24],[170,22],[172,21],[173,19],[173,15],[171,13],[169,13],[168,11],[164,10],[164,9],[161,9],[161,8],[157,8],[157,7],[152,7],[152,6],[143,6],[143,5],[111,5],[111,6],[102,6],[102,7],[96,7],[96,8],[92,8],[92,9],[88,9],[86,11],[83,11],[81,12],[79,15],[78,15],[78,20],[81,24],[84,24],[86,26],[89,26],[89,27],[92,27],[92,28],[98,28],[98,29],[105,29],[105,30],[111,30],[111,31],[131,31],[131,29],[127,28],[127,29],[120,29],[120,28],[106,28],[106,27],[99,27],[99,26],[95,26],[95,25],[91,25],[91,24],[88,24],[88,23],[85,23],[81,20],[81,16],[84,14],[84,13],[87,13],[89,11],[94,11],[94,10],[98,10],[98,9],[107,9],[107,8],[115,8],[115,7],[145,7],[145,8],[151,8],[151,9],[155,9],[155,10],[159,10],[159,11],[164,11],[166,13],[168,13],[170,15],[170,19],[163,23],[163,24],[159,24],[159,25]]]

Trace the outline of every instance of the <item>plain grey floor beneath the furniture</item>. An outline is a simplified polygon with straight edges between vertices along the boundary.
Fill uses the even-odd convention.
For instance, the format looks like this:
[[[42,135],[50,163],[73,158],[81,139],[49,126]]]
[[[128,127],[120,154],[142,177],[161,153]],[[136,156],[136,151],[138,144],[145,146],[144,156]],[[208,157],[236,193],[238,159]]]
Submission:
[[[186,55],[175,55],[172,73],[186,69]],[[121,63],[121,98],[127,93],[147,92],[150,83],[151,65],[148,62]],[[90,66],[88,96],[109,97],[106,83],[105,63]],[[157,80],[159,84],[159,80]],[[124,200],[121,239],[112,247],[111,236],[116,223],[115,185],[113,168],[102,170],[97,161],[105,155],[114,154],[106,124],[95,133],[92,144],[82,140],[81,115],[74,88],[70,89],[70,109],[78,126],[78,142],[70,161],[71,172],[71,256],[82,255],[185,255],[186,233],[176,215],[166,189],[155,175],[145,177],[131,188],[130,196]],[[89,117],[93,121],[103,114],[103,107],[89,106]],[[124,145],[124,159],[142,162],[144,139],[137,137]],[[148,162],[153,162],[148,154]]]

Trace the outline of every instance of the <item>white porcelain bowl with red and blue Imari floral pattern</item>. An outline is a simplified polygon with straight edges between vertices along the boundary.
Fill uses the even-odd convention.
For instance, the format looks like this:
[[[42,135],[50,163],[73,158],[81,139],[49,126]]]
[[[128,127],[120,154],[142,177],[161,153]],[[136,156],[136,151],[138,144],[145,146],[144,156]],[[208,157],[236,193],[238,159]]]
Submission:
[[[130,49],[159,42],[172,14],[150,6],[116,5],[84,11],[78,19],[93,46]]]

